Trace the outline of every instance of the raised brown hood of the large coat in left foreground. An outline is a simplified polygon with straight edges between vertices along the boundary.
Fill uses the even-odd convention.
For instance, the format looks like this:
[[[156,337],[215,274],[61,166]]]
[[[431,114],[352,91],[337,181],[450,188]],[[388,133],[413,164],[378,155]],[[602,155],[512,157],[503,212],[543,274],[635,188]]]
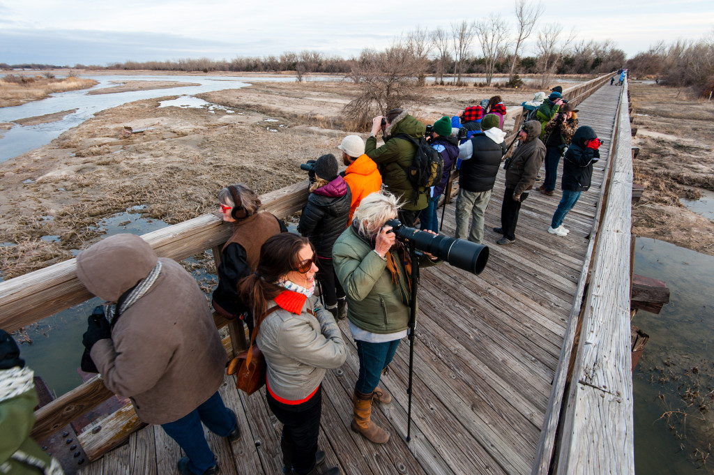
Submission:
[[[154,269],[159,256],[134,234],[115,234],[77,256],[77,278],[92,294],[114,302]]]

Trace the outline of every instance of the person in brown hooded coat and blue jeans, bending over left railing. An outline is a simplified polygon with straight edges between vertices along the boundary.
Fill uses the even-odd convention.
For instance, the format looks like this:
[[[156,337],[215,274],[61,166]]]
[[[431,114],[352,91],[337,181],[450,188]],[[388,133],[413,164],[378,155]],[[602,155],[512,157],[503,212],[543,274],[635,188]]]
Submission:
[[[77,278],[110,302],[83,340],[104,386],[129,397],[141,421],[160,424],[181,446],[179,474],[218,474],[201,423],[229,441],[241,432],[218,394],[226,350],[196,280],[132,234],[82,251]]]

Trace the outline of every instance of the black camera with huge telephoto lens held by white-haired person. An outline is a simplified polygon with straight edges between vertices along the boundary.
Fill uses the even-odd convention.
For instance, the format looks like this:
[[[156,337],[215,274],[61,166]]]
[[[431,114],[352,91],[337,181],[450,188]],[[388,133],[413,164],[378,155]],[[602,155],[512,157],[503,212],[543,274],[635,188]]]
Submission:
[[[385,223],[385,226],[392,226],[391,232],[396,234],[396,238],[403,244],[413,246],[419,251],[428,252],[458,269],[478,275],[486,268],[488,246],[466,241],[466,239],[419,231],[404,226],[398,219],[390,219]]]

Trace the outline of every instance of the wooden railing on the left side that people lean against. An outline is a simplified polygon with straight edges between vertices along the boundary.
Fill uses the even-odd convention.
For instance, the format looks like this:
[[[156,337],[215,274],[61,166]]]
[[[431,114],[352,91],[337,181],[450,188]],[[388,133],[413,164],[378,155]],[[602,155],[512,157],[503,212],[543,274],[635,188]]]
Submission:
[[[592,81],[565,89],[563,96],[577,105],[608,81],[610,76],[610,74],[600,76]],[[522,117],[523,108],[521,106],[507,109],[506,119],[514,119],[510,138],[518,132]],[[302,181],[263,194],[261,196],[263,208],[279,218],[289,216],[302,209],[308,197],[307,189],[307,181]],[[220,249],[218,246],[221,246],[230,234],[231,226],[224,225],[221,219],[213,214],[204,214],[183,223],[144,234],[141,237],[151,244],[160,257],[181,261],[207,249],[214,249],[214,258],[216,258],[215,249]],[[580,281],[584,282],[585,279],[581,276]],[[580,296],[582,296],[582,291],[580,291]],[[6,331],[20,329],[92,297],[76,278],[76,259],[0,282],[0,328]],[[228,324],[228,321],[216,314],[214,314],[214,319],[219,328]],[[36,411],[36,423],[32,435],[35,439],[43,439],[111,396],[113,394],[101,382],[101,377],[96,376]],[[553,398],[551,397],[551,399]],[[558,401],[559,406],[560,401]],[[557,411],[554,411],[553,414],[557,424]],[[134,429],[138,427],[135,424]],[[131,431],[126,431],[126,427],[124,427],[122,435],[129,436],[129,432]],[[80,440],[83,440],[82,436],[80,436]],[[96,459],[104,451],[111,449],[111,446],[110,443],[104,444],[101,450],[91,453],[87,451],[87,455],[90,459]],[[548,455],[548,460],[550,460],[550,455]]]

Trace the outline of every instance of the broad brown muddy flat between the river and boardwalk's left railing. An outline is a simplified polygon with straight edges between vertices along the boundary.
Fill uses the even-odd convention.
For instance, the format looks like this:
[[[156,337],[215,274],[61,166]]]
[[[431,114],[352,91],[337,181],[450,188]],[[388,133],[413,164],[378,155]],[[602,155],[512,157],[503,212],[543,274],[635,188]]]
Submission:
[[[511,106],[533,92],[429,86],[410,110],[431,124],[493,94]],[[99,239],[97,221],[131,206],[175,224],[216,211],[228,184],[262,194],[304,179],[301,163],[339,154],[341,111],[354,93],[343,81],[259,83],[199,95],[221,107],[160,107],[176,97],[166,96],[99,112],[0,164],[0,243],[14,244],[0,246],[2,277],[71,258]],[[149,130],[123,138],[124,126]]]

